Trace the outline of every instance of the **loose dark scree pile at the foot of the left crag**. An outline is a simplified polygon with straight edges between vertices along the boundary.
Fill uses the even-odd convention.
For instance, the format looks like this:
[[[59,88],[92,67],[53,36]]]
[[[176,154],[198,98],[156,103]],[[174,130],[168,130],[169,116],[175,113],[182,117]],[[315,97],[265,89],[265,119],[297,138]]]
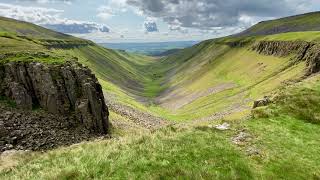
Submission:
[[[21,111],[0,104],[0,153],[16,150],[47,150],[97,138],[70,117],[44,110]]]

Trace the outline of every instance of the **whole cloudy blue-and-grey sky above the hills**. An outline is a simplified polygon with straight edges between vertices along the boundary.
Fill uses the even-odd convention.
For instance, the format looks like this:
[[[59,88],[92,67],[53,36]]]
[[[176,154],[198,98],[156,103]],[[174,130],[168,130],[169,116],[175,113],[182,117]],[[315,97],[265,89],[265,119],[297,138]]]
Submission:
[[[0,16],[96,42],[204,40],[320,10],[320,0],[0,0]]]

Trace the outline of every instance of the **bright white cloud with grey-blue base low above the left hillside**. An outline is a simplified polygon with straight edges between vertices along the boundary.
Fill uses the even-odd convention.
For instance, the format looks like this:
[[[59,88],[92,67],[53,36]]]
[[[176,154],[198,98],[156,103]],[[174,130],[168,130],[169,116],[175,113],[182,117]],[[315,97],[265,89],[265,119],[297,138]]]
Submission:
[[[63,10],[53,8],[24,7],[0,3],[0,16],[32,22],[62,33],[85,34],[95,31],[110,31],[105,25],[62,18],[63,12]]]

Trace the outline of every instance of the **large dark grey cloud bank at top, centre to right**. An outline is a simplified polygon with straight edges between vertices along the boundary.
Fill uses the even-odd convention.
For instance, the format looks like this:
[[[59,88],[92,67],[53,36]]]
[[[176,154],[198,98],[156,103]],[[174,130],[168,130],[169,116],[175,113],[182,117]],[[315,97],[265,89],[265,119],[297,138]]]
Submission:
[[[309,0],[128,0],[144,15],[161,18],[171,30],[250,26],[267,17],[300,13]]]

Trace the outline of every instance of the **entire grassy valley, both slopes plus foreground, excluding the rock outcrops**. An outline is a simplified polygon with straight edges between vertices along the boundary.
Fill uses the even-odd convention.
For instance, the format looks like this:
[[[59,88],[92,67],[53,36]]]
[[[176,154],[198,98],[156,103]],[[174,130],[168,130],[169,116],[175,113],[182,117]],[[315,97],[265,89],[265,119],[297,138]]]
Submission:
[[[108,98],[169,125],[148,130],[111,112],[113,138],[6,156],[0,179],[320,178],[320,76],[305,77],[306,62],[293,63],[293,55],[252,50],[260,41],[318,43],[319,32],[207,40],[160,59],[80,39],[28,37],[14,28],[0,33],[1,53],[43,52],[52,63],[77,57]],[[10,60],[19,59],[26,60]],[[274,103],[252,111],[265,95]],[[224,122],[229,130],[215,128]]]

